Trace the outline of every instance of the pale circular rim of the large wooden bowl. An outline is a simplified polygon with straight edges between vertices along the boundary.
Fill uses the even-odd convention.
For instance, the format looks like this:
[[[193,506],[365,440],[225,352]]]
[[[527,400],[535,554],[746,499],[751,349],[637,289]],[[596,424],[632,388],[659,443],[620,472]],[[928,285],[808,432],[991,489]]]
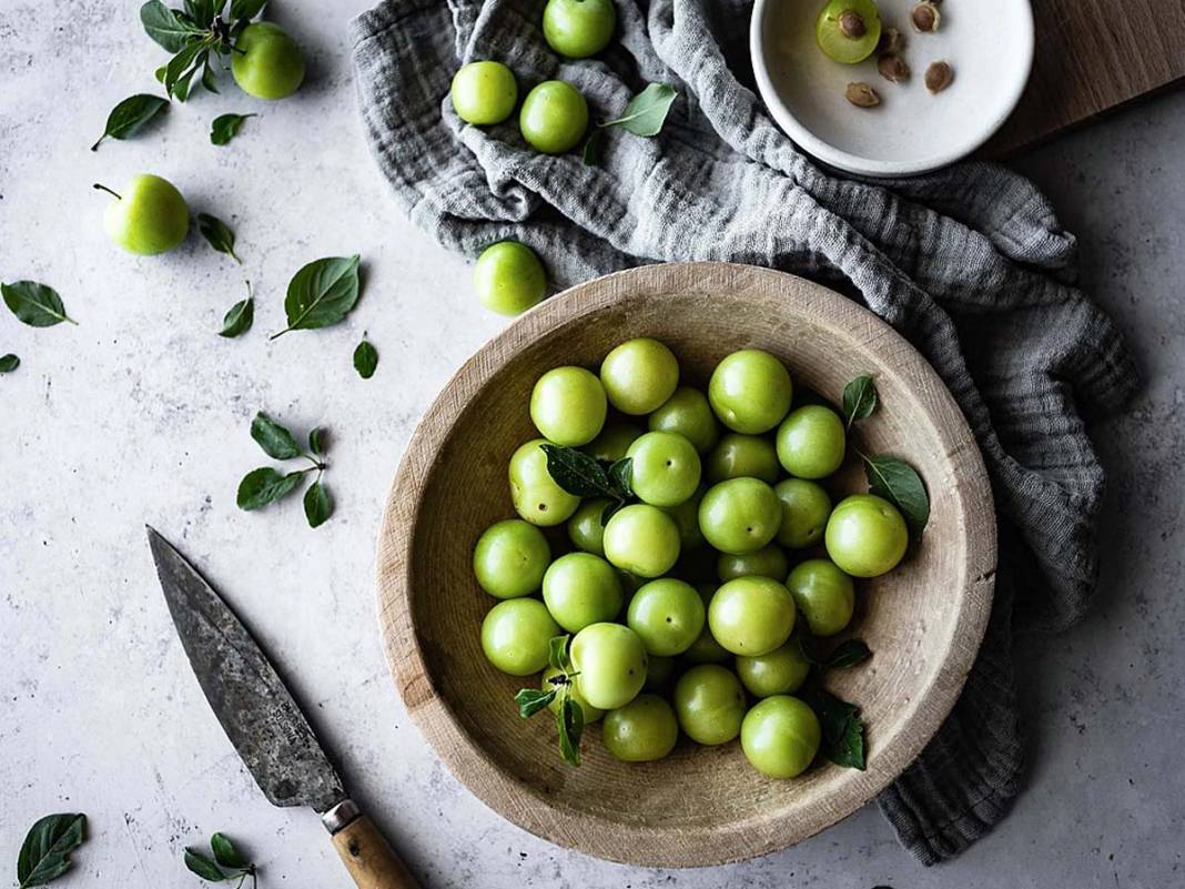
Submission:
[[[934,682],[909,705],[915,718],[892,737],[866,772],[844,787],[845,793],[814,807],[814,813],[788,823],[752,817],[700,827],[655,827],[623,824],[566,807],[544,798],[502,768],[459,725],[448,704],[433,685],[417,634],[410,599],[415,526],[424,487],[440,459],[449,433],[492,377],[527,343],[581,316],[616,303],[677,293],[688,277],[719,280],[713,292],[767,288],[805,289],[815,300],[814,314],[840,319],[843,327],[875,328],[877,339],[893,341],[902,371],[918,375],[928,394],[943,405],[946,427],[935,423],[943,449],[959,479],[956,514],[969,529],[963,561],[963,606],[955,619],[950,642],[942,653]],[[606,281],[615,287],[606,288]],[[626,282],[627,286],[621,284]],[[606,295],[608,294],[608,295]],[[857,324],[858,322],[858,324]],[[524,339],[524,327],[530,335]],[[856,339],[853,334],[853,339]],[[507,348],[512,345],[512,348]],[[927,408],[934,418],[935,409]],[[953,418],[953,420],[952,420]],[[427,468],[423,468],[427,467]],[[997,558],[995,513],[992,491],[979,446],[937,372],[899,333],[869,309],[807,279],[773,269],[724,262],[679,262],[643,266],[613,273],[564,290],[521,315],[479,348],[453,375],[412,434],[391,486],[376,554],[379,628],[391,676],[408,714],[453,774],[482,802],[524,830],[552,843],[621,863],[647,866],[706,866],[752,858],[784,849],[843,820],[889,786],[922,752],[959,698],[979,652],[991,614]],[[672,842],[678,837],[678,842]]]

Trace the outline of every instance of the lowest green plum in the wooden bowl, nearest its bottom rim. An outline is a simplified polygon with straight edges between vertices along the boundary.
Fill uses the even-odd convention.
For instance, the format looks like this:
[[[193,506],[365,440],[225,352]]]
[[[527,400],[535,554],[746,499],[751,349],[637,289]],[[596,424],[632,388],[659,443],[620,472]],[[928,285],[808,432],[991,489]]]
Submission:
[[[789,695],[758,701],[741,723],[741,749],[769,778],[802,774],[819,753],[821,738],[819,717]]]

